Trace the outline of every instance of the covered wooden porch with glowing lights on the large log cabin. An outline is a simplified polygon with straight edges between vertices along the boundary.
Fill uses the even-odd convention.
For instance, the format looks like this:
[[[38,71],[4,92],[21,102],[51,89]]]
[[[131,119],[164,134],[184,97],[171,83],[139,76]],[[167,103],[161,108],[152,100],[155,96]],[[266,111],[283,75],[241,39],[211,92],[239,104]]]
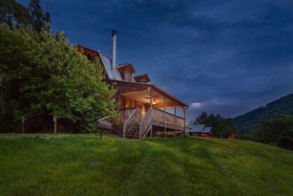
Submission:
[[[120,102],[120,119],[125,125],[124,129],[129,127],[130,121],[135,121],[139,126],[140,138],[144,138],[148,132],[152,137],[153,129],[165,133],[185,130],[185,110],[188,105],[178,98],[156,85],[116,80],[113,85],[118,91],[116,98]],[[130,128],[135,126],[135,123],[130,124]]]

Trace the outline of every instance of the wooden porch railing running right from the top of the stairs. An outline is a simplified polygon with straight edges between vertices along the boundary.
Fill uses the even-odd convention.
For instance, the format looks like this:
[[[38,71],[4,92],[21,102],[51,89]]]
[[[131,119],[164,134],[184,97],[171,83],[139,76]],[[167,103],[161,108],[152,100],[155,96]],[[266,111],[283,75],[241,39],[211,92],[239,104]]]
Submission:
[[[176,126],[180,128],[184,128],[184,119],[176,116],[174,114],[170,114],[166,112],[166,121],[164,119],[164,111],[158,108],[153,107],[152,121],[155,123],[166,124],[169,126]]]

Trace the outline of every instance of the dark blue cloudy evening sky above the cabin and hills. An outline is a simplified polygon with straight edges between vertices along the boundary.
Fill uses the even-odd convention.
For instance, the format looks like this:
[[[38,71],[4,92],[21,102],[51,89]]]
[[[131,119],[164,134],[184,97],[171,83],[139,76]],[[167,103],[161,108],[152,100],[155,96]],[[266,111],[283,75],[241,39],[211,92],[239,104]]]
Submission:
[[[293,93],[292,0],[40,1],[71,43],[98,50],[117,30],[117,62],[188,103],[187,121]]]

